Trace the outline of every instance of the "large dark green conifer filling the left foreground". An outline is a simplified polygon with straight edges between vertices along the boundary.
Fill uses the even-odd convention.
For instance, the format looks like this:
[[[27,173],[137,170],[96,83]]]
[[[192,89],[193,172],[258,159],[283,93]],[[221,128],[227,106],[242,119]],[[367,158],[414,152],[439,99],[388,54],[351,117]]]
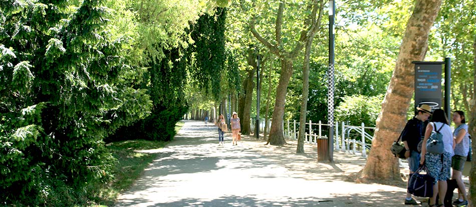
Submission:
[[[2,1],[0,200],[81,205],[111,180],[103,139],[151,101],[101,1]]]

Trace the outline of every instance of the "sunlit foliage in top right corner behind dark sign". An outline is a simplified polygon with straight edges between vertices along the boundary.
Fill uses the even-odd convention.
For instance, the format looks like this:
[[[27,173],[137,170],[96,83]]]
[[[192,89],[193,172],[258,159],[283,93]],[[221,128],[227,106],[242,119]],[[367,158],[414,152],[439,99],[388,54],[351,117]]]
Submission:
[[[455,13],[458,15],[454,15]],[[474,22],[476,3],[473,0],[445,0],[428,42],[429,61],[451,58],[451,108],[466,113],[471,110],[471,99],[474,101]],[[469,119],[470,117],[466,117],[466,120]]]

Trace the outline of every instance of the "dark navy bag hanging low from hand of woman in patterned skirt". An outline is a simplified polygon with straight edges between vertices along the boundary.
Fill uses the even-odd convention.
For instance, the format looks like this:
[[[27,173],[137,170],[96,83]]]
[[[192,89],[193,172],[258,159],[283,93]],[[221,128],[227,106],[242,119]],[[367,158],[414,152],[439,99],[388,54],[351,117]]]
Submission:
[[[424,170],[426,174],[420,174]],[[433,185],[435,179],[428,175],[425,165],[420,166],[416,172],[410,174],[407,192],[417,197],[433,197]]]

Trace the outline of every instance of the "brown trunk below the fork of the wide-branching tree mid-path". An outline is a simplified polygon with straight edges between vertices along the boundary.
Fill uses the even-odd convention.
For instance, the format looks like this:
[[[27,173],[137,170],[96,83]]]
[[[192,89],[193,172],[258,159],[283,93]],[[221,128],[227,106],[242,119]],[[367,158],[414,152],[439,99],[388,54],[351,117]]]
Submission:
[[[283,135],[284,107],[286,104],[286,93],[288,91],[289,79],[293,75],[293,62],[281,59],[281,75],[276,90],[275,109],[273,111],[273,124],[270,129],[269,143],[271,145],[285,145]]]

